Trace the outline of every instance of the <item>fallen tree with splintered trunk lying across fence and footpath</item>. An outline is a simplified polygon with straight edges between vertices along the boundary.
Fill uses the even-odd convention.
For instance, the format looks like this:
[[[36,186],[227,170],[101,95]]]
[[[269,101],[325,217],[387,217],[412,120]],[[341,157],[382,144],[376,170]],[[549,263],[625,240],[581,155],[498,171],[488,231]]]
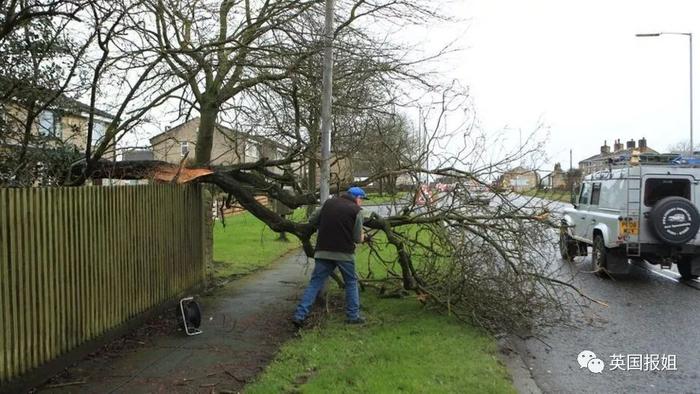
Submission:
[[[481,136],[475,140],[481,140]],[[471,156],[471,151],[465,151],[465,158]],[[365,226],[382,235],[375,237],[380,242],[371,245],[373,261],[369,264],[382,264],[388,275],[381,280],[363,278],[363,283],[383,294],[414,292],[429,306],[498,332],[524,332],[565,322],[570,302],[580,304],[587,297],[559,271],[554,245],[557,223],[548,204],[502,191],[484,180],[486,175],[497,174],[536,152],[519,149],[500,162],[469,169],[425,169],[408,163],[410,166],[375,173],[356,183],[367,185],[388,174],[416,179],[429,174],[450,182],[448,188],[435,192],[424,204],[409,198],[396,206],[393,214],[367,215]],[[454,154],[449,157],[452,162],[457,158]],[[199,169],[153,161],[101,161],[92,177],[176,182],[178,172],[199,171],[197,182],[216,185],[273,231],[293,234],[301,240],[306,255],[312,257],[316,229],[307,222],[279,215],[255,198],[264,194],[292,209],[316,204],[318,193],[303,191],[294,174],[272,171],[289,168],[297,160],[303,158],[262,158]],[[82,169],[78,165],[74,171],[80,174]],[[171,177],[158,175],[163,173]],[[387,247],[393,250],[392,258],[387,259],[380,251]]]

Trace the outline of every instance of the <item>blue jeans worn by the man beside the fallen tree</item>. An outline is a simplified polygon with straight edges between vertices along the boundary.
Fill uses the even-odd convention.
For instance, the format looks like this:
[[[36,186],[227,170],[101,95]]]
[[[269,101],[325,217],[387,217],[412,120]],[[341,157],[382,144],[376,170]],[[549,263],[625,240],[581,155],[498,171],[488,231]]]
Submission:
[[[316,301],[316,296],[321,291],[326,279],[331,272],[338,267],[345,281],[345,314],[348,319],[355,320],[360,317],[360,293],[357,288],[357,274],[355,274],[354,261],[339,261],[316,259],[314,271],[311,273],[311,281],[301,297],[301,302],[294,312],[294,318],[304,320],[311,311],[311,306]]]

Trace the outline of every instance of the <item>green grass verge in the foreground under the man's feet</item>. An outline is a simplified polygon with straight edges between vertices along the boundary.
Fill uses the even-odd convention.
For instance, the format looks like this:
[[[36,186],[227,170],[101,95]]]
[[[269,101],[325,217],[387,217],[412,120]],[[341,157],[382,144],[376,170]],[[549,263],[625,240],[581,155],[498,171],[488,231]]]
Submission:
[[[415,229],[409,229],[415,231]],[[382,245],[382,236],[375,243]],[[387,257],[393,246],[381,248]],[[357,269],[385,275],[361,246]],[[343,293],[330,288],[338,306],[319,325],[304,329],[285,344],[247,393],[305,392],[478,392],[514,393],[506,368],[489,334],[425,309],[415,296],[379,298],[361,293],[364,326],[344,323]]]

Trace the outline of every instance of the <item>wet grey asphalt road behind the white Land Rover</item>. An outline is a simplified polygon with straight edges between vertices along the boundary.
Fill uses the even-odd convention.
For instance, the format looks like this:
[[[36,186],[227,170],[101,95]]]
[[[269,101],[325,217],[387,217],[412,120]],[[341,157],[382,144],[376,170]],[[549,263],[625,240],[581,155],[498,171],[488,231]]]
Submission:
[[[608,306],[591,306],[576,327],[551,329],[518,344],[543,392],[700,392],[699,282],[679,282],[675,268],[649,264],[603,279],[590,273],[590,257],[573,263],[552,259],[563,273],[575,275],[574,283],[587,295]],[[602,372],[579,366],[584,350],[603,361]]]

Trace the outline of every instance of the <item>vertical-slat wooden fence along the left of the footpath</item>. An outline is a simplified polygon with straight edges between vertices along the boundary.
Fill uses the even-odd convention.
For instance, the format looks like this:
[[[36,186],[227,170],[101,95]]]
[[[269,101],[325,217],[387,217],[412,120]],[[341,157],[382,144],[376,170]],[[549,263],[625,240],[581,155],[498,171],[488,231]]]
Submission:
[[[201,283],[198,185],[0,189],[0,383]]]

